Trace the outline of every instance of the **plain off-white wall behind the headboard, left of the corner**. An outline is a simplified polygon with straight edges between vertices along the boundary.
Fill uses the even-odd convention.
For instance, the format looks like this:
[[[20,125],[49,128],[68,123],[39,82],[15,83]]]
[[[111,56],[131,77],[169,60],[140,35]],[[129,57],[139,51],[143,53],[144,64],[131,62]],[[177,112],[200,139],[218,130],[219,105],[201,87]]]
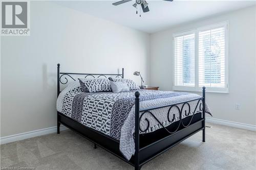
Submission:
[[[56,126],[57,63],[149,82],[150,35],[51,2],[30,8],[30,36],[1,37],[1,137]]]

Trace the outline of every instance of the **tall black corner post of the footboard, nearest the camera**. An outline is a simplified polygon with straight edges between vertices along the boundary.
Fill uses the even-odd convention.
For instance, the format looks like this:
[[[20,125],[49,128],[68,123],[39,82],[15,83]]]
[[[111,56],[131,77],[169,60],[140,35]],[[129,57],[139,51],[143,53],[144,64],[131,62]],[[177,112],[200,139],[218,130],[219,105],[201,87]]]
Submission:
[[[135,170],[140,169],[140,157],[139,157],[139,150],[140,150],[140,92],[135,92]]]

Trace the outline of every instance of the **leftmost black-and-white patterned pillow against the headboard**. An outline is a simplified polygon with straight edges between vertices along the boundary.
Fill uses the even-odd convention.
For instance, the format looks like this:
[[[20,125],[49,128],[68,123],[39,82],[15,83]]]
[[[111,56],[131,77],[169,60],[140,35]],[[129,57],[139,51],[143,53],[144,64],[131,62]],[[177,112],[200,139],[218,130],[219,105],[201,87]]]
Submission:
[[[111,91],[108,79],[79,79],[79,82],[83,92]]]

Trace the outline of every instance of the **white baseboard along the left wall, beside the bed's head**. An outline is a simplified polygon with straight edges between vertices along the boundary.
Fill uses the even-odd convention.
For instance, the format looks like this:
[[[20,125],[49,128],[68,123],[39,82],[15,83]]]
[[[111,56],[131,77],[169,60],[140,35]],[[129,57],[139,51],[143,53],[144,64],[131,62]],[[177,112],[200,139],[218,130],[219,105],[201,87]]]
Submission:
[[[60,131],[63,131],[63,130],[66,130],[66,129],[68,129],[68,128],[63,126],[63,125],[60,126]],[[41,135],[47,135],[47,134],[50,134],[50,133],[57,133],[57,126],[1,137],[0,138],[0,144],[10,143],[10,142],[23,140],[23,139],[28,139],[28,138],[31,138],[31,137],[36,137],[36,136],[41,136]]]

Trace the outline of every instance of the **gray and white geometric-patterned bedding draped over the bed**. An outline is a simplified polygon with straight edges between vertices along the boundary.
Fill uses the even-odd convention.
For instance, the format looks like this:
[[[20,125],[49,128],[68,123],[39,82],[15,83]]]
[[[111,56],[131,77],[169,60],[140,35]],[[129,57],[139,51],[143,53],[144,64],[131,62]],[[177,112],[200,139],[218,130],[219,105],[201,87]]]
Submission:
[[[57,99],[57,110],[77,122],[111,136],[120,142],[120,151],[126,159],[130,159],[135,152],[133,133],[135,130],[135,91],[140,92],[140,109],[174,104],[201,96],[185,92],[158,91],[158,90],[130,90],[114,92],[82,92],[79,82],[68,86]],[[197,101],[189,102],[191,112],[194,111]],[[181,105],[179,106],[181,108]],[[187,107],[185,105],[185,107]],[[170,125],[167,120],[169,108],[155,109],[151,112],[164,126]],[[199,112],[199,107],[196,112]],[[206,106],[206,112],[210,112]],[[190,113],[191,115],[192,113]],[[179,112],[172,109],[170,114],[179,120]],[[182,113],[182,118],[185,113]],[[140,123],[142,130],[146,129],[147,118],[150,121],[150,133],[161,128],[161,125],[150,114],[144,114]]]

